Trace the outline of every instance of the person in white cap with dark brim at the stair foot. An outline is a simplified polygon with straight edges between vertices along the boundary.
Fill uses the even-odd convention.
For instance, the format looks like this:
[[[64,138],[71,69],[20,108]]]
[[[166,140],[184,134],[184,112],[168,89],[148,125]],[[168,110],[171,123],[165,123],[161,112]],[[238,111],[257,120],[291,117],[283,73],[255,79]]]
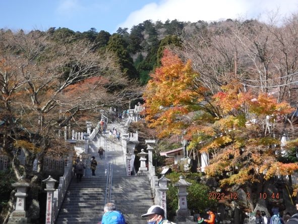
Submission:
[[[141,215],[142,217],[148,217],[148,224],[175,224],[164,217],[164,210],[159,205],[152,205],[146,214]]]

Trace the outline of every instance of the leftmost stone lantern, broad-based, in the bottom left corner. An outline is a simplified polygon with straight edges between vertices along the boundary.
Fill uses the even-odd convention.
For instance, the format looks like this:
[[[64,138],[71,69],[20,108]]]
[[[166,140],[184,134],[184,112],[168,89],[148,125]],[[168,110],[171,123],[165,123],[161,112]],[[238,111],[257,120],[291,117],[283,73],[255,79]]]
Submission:
[[[30,218],[26,217],[26,191],[29,187],[29,184],[24,181],[20,180],[17,183],[12,184],[13,187],[17,188],[17,193],[15,196],[17,197],[16,202],[16,210],[12,212],[11,216],[9,217],[8,223],[14,224],[14,223],[30,223]]]

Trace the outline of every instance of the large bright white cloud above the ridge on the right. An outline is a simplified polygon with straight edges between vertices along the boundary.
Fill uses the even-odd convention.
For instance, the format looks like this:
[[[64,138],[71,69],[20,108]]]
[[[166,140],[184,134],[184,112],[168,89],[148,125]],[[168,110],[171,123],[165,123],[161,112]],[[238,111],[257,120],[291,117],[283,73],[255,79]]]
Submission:
[[[277,9],[282,16],[296,12],[298,0],[161,0],[132,12],[117,27],[131,28],[148,19],[154,22],[167,19],[217,21],[239,17],[265,19],[265,15]]]

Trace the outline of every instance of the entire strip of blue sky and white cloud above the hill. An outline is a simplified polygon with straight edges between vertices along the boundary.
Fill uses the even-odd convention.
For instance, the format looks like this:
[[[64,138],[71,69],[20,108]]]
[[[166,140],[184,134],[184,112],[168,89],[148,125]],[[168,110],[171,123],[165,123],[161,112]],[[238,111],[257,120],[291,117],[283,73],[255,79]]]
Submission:
[[[96,28],[113,33],[147,19],[196,22],[220,19],[279,19],[298,12],[298,0],[2,0],[0,28],[74,31]]]

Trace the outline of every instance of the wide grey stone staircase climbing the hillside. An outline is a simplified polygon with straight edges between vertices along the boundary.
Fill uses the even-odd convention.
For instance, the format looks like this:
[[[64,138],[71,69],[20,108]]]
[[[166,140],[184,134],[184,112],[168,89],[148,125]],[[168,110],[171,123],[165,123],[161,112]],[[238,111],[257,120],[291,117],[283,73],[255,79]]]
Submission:
[[[110,125],[111,126],[111,125]],[[120,125],[114,125],[120,129]],[[113,127],[111,126],[111,127]],[[108,128],[110,128],[108,126]],[[121,129],[122,130],[122,129]],[[123,133],[123,132],[122,132]],[[91,141],[90,156],[95,156],[98,163],[95,176],[90,170],[90,161],[87,161],[86,174],[82,182],[77,183],[74,177],[65,196],[56,224],[61,223],[88,223],[97,224],[103,215],[105,203],[106,176],[105,159],[100,159],[97,153],[99,146],[107,143],[107,163],[112,163],[112,191],[111,202],[121,211],[127,223],[147,223],[141,214],[147,212],[153,205],[153,198],[147,176],[127,176],[121,141],[111,141],[108,134],[97,136]]]

